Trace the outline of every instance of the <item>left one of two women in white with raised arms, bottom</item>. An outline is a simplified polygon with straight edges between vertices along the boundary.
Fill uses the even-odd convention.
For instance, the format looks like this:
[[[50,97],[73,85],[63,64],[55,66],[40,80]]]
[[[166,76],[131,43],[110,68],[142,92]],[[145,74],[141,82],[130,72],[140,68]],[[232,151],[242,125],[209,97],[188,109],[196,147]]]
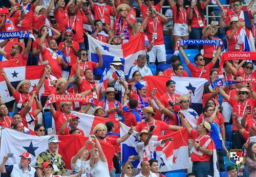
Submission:
[[[86,141],[84,146],[82,146],[75,156],[71,158],[71,168],[74,174],[80,174],[79,171],[82,169],[82,174],[88,176],[90,175],[91,167],[90,167],[90,152],[87,149],[90,141],[89,139]]]

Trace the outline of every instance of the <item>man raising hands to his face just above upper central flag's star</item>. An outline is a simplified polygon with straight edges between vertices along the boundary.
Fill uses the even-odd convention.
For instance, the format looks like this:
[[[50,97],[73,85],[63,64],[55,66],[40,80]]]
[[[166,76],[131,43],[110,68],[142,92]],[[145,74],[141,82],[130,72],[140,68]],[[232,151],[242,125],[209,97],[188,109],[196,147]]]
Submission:
[[[108,26],[106,23],[104,24],[100,19],[94,20],[93,26],[94,30],[91,34],[91,36],[99,41],[108,43],[109,39],[114,35],[113,32],[110,30],[110,26]]]

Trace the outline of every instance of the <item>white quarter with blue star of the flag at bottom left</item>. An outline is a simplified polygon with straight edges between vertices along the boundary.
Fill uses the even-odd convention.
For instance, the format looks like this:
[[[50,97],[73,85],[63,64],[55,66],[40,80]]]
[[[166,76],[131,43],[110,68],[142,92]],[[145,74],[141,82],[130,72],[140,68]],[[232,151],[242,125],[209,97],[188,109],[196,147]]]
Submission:
[[[50,136],[38,137],[12,129],[4,129],[1,136],[0,159],[3,159],[4,155],[8,153],[13,153],[13,158],[9,158],[6,165],[18,164],[19,156],[28,152],[32,156],[30,165],[35,166],[37,155],[48,149],[49,138]]]

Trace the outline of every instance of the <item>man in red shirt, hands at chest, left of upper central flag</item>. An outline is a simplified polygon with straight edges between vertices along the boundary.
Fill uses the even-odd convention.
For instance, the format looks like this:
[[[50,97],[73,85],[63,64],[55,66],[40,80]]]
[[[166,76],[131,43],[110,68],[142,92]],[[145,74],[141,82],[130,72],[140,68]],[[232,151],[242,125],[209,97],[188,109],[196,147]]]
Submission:
[[[66,30],[64,36],[66,40],[59,43],[58,49],[66,56],[67,62],[71,67],[76,63],[79,43],[73,40],[74,34],[70,28]]]

